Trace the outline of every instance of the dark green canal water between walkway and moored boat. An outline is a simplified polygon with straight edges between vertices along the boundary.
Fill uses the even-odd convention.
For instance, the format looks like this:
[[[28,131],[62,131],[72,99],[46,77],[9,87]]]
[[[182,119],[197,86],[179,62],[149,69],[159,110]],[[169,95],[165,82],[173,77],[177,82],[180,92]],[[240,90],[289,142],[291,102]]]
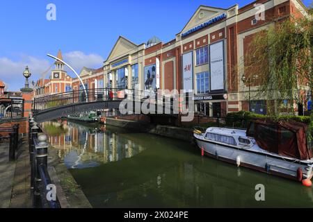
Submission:
[[[93,124],[43,126],[93,207],[313,207],[312,188],[201,157],[188,142]],[[258,184],[265,201],[255,199]]]

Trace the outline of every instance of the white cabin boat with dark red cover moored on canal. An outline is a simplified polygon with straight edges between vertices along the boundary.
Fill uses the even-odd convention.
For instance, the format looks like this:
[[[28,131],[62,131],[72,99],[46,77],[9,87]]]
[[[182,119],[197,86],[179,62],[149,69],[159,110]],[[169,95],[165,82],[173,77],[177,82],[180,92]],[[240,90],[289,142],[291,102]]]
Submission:
[[[313,176],[312,151],[307,147],[306,141],[303,143],[303,130],[305,129],[301,129],[299,125],[294,126],[294,123],[286,125],[259,121],[251,123],[248,130],[216,127],[207,128],[203,133],[195,130],[193,137],[202,150],[202,155],[230,162],[238,167],[303,181],[311,180]],[[280,139],[275,136],[277,132]],[[273,138],[278,139],[281,144],[273,142]],[[263,148],[259,144],[264,145]]]

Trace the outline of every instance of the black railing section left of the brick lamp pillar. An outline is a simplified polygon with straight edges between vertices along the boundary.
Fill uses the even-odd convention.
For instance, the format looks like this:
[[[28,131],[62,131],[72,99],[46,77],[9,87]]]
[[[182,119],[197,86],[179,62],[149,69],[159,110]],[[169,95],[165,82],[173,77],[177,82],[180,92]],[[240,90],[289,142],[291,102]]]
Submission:
[[[24,117],[24,99],[0,99],[0,119]]]

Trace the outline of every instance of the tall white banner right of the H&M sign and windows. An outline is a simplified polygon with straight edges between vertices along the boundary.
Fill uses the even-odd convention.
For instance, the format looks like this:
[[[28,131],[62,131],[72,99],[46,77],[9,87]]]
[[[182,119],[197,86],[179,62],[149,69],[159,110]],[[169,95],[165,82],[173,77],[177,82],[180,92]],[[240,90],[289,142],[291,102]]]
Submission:
[[[224,41],[210,45],[211,91],[224,89]]]

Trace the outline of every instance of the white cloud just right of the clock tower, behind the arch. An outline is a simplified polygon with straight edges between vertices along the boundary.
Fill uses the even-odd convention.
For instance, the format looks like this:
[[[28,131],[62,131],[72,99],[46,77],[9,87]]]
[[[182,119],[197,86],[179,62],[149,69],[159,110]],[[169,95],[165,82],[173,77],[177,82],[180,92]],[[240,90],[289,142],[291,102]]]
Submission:
[[[104,58],[95,53],[85,54],[82,51],[71,51],[63,55],[63,59],[68,65],[79,72],[83,67],[97,69],[102,67]]]

